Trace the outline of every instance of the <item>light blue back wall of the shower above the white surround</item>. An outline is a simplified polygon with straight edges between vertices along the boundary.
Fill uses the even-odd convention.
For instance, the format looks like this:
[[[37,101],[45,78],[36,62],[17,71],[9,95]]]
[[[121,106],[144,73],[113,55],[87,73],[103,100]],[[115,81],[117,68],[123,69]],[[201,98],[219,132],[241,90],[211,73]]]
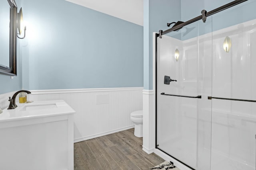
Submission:
[[[192,18],[200,16],[200,12],[203,9],[209,12],[230,2],[232,2],[232,0],[182,0],[182,21],[188,21]],[[201,25],[201,23],[192,23],[187,27],[192,27],[196,25],[196,29],[191,31],[185,37],[182,37],[182,40],[190,39],[198,35],[203,35],[205,33],[216,31],[218,29],[223,29],[245,21],[253,20],[256,18],[256,13],[252,12],[255,8],[256,1],[248,0],[231,8],[223,10],[222,12],[218,12],[212,16],[208,16],[206,19],[208,25],[202,25],[202,27],[198,27],[198,24]],[[202,20],[197,22],[202,22]]]

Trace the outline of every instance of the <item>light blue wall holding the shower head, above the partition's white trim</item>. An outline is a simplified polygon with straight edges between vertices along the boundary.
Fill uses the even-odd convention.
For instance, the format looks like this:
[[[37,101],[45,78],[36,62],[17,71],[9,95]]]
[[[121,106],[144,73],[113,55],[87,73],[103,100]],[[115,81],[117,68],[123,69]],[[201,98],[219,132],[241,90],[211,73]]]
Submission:
[[[153,32],[180,20],[180,0],[144,0],[144,89],[153,89]],[[146,47],[145,47],[146,46]]]

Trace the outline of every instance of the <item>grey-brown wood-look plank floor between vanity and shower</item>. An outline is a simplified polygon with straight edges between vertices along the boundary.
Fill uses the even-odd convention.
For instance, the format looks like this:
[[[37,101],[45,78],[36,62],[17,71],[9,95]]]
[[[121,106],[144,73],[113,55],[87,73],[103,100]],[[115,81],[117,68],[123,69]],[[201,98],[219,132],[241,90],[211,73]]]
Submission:
[[[142,150],[134,128],[74,143],[74,170],[149,170],[164,162]]]

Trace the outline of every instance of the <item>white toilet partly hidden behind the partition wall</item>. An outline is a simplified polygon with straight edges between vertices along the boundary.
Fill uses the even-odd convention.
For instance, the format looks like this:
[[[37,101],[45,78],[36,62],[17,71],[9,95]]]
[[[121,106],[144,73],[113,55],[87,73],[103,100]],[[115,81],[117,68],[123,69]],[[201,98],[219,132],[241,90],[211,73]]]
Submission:
[[[134,135],[136,137],[142,137],[143,136],[143,110],[132,112],[131,121],[135,124]]]

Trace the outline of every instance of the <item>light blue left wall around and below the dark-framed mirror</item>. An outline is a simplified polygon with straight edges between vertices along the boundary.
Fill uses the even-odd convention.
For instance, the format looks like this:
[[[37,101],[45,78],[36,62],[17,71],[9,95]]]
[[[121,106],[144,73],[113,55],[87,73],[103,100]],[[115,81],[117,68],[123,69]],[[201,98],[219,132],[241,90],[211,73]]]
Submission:
[[[18,6],[18,10],[20,10],[20,0],[16,0],[16,4]],[[22,87],[20,41],[22,40],[17,39],[17,76],[14,76],[14,78],[11,79],[10,76],[0,74],[0,94],[17,91]],[[2,55],[1,52],[0,55]]]

